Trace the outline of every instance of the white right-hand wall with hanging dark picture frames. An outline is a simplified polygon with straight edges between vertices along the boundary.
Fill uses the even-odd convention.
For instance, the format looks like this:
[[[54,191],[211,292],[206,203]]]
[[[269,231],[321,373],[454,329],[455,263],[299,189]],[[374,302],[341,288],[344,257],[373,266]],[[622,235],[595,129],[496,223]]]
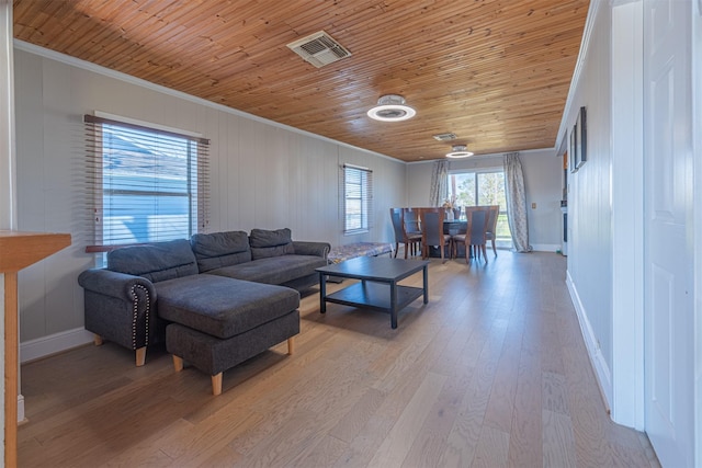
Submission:
[[[587,109],[587,162],[568,174],[568,286],[602,390],[612,399],[611,9],[593,4],[589,41],[564,116]],[[582,52],[581,52],[582,54]]]

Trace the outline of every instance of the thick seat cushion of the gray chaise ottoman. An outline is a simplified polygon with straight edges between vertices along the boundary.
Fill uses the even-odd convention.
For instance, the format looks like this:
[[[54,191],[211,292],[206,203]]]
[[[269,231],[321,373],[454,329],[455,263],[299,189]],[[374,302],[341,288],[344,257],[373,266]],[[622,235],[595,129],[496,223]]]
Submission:
[[[299,306],[295,289],[208,274],[155,286],[159,317],[220,339],[268,323]]]

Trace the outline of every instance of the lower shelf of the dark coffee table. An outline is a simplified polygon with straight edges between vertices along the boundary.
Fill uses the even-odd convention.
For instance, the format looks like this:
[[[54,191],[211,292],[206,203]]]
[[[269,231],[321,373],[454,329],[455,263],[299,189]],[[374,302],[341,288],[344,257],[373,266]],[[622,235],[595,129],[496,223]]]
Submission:
[[[397,305],[395,310],[403,309],[424,294],[421,287],[399,285],[395,287],[397,288]],[[388,313],[393,312],[389,284],[369,281],[361,282],[325,296],[324,300],[343,306],[358,306]]]

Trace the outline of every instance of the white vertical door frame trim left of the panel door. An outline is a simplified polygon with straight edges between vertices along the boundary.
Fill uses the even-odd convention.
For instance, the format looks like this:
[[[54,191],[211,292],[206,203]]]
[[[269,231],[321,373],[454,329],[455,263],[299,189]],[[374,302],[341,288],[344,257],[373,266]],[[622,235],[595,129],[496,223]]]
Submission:
[[[644,430],[643,2],[612,8],[612,420]]]

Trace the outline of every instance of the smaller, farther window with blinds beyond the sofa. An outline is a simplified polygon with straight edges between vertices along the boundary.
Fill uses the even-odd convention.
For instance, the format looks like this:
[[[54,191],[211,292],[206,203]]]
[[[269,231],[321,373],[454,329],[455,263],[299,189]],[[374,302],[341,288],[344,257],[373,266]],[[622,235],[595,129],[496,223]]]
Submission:
[[[343,164],[339,185],[343,191],[339,196],[343,201],[343,233],[367,232],[373,219],[373,171]]]

